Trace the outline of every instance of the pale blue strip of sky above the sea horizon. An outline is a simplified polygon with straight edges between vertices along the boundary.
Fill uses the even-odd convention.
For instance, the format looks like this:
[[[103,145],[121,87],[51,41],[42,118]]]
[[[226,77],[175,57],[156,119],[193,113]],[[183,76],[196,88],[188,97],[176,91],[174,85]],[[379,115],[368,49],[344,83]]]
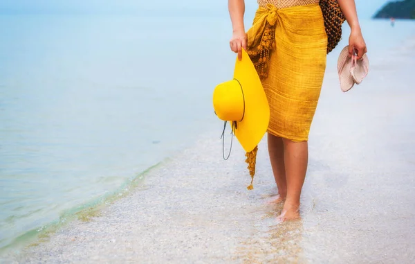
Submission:
[[[360,18],[369,18],[388,0],[356,0]],[[247,9],[254,10],[256,0],[246,0]],[[186,15],[223,15],[226,0],[0,0],[0,14],[17,13],[82,13],[82,12],[138,12]]]

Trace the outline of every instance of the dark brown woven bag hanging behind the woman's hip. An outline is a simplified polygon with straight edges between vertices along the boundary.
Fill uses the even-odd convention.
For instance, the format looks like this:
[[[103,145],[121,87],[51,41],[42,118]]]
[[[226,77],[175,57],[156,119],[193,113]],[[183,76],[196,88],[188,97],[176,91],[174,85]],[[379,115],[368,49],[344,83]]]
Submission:
[[[342,39],[342,24],[346,18],[337,0],[320,0],[327,34],[327,53],[333,51]]]

